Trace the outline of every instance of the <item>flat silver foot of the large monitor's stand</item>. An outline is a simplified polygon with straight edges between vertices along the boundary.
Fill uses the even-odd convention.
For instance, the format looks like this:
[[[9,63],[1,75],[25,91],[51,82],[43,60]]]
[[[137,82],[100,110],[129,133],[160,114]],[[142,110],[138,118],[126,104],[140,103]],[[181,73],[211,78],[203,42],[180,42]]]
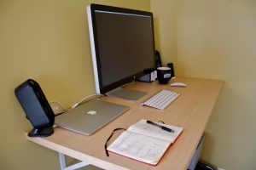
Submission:
[[[115,88],[108,92],[106,95],[113,98],[127,99],[127,100],[137,100],[146,95],[146,92],[130,90],[125,88]]]

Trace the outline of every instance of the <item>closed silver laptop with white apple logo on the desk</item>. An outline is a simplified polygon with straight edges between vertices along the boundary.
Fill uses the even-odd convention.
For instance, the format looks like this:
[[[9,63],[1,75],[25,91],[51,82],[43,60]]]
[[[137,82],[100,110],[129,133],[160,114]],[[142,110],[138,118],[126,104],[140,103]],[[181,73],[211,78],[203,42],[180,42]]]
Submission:
[[[125,105],[94,99],[71,111],[55,116],[55,124],[77,133],[90,135],[129,109]]]

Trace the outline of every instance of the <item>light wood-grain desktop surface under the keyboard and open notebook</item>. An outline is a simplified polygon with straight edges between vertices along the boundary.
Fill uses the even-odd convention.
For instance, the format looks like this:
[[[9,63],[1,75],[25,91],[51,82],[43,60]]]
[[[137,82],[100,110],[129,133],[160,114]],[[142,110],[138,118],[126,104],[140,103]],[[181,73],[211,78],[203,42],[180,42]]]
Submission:
[[[116,104],[128,105],[131,109],[91,136],[73,133],[57,127],[55,128],[55,133],[47,138],[26,138],[51,150],[56,150],[104,169],[184,170],[189,166],[224,82],[187,77],[177,77],[172,82],[184,82],[188,84],[188,87],[172,88],[168,85],[160,85],[158,82],[134,82],[128,88],[146,91],[148,94],[142,99],[125,101],[108,97],[102,98]],[[181,95],[164,111],[140,106],[143,100],[148,99],[148,97],[162,88],[178,92]],[[110,156],[107,157],[104,144],[113,129],[116,127],[129,127],[143,118],[154,122],[164,121],[166,124],[184,128],[182,135],[166,151],[166,155],[163,156],[160,163],[156,167],[152,167],[113,153],[110,153]],[[115,134],[113,139],[118,135],[118,133]]]

